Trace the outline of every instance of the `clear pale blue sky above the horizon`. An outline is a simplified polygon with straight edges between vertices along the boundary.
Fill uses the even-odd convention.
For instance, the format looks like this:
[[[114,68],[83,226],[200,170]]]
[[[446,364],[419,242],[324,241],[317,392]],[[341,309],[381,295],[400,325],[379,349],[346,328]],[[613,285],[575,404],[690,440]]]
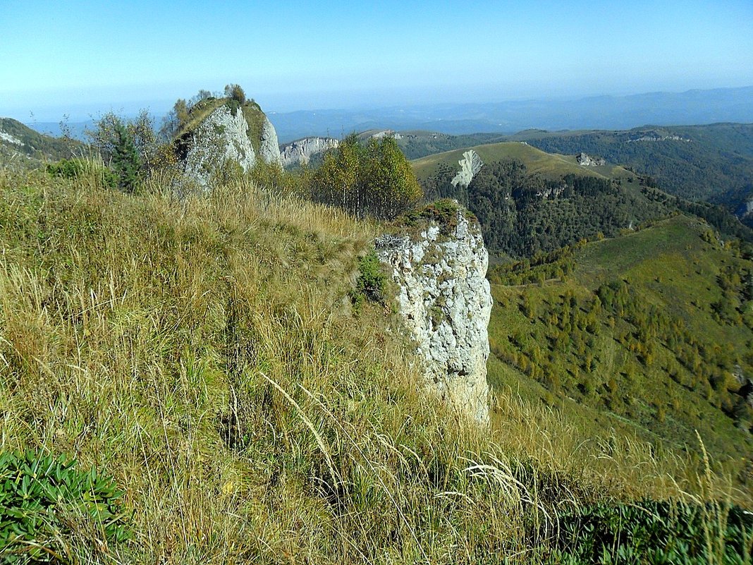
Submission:
[[[268,111],[753,84],[753,2],[0,0],[0,116]]]

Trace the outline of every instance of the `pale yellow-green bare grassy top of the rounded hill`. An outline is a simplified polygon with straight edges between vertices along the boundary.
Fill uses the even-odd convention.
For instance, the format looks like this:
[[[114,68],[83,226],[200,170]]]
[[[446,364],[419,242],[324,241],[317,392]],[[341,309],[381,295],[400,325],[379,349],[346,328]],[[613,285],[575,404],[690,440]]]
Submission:
[[[620,166],[600,166],[584,167],[578,165],[575,157],[568,155],[545,153],[535,147],[519,142],[502,142],[491,143],[488,145],[477,145],[472,148],[457,149],[456,151],[447,151],[445,153],[429,155],[412,161],[413,172],[419,179],[425,179],[434,173],[437,165],[447,163],[451,166],[458,166],[458,161],[462,159],[463,153],[473,149],[479,154],[484,163],[502,159],[519,159],[526,164],[529,173],[538,173],[547,179],[559,179],[559,177],[568,173],[586,176],[599,176],[607,178],[633,177],[633,173],[624,170]]]

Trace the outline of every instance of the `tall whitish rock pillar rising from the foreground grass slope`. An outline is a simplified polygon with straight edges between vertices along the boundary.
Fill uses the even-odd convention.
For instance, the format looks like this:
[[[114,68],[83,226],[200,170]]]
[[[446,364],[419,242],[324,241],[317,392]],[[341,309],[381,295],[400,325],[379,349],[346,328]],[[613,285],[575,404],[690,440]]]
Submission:
[[[477,221],[468,221],[462,209],[455,219],[447,235],[434,222],[417,239],[380,237],[377,256],[398,285],[399,314],[416,343],[425,378],[459,411],[486,424],[489,254]]]

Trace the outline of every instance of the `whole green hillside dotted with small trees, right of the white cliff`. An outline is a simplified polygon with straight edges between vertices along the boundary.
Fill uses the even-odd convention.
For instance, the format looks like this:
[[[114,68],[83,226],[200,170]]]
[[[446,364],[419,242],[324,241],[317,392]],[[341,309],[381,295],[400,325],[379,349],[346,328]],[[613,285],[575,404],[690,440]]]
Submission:
[[[493,267],[489,380],[676,453],[700,453],[697,431],[749,488],[751,273],[749,249],[684,215]]]

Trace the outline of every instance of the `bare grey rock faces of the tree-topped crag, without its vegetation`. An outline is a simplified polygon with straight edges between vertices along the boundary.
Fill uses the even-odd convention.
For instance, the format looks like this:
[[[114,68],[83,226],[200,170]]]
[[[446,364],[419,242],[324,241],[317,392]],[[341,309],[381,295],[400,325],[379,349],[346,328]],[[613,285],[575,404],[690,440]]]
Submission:
[[[232,163],[246,172],[252,170],[257,158],[265,163],[280,163],[277,133],[266,116],[258,135],[259,139],[253,140],[258,141],[257,154],[242,109],[233,111],[227,105],[219,106],[182,140],[186,145],[185,173],[206,187],[213,176]]]

